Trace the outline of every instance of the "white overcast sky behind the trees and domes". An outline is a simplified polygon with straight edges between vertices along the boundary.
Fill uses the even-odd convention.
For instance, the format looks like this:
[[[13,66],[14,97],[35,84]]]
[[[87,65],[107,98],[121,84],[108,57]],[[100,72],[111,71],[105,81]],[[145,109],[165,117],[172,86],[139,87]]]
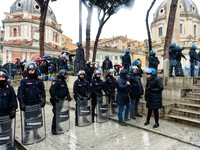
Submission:
[[[4,12],[10,11],[10,6],[16,0],[0,0],[0,20],[4,19]],[[144,40],[147,38],[145,17],[153,0],[136,0],[132,8],[122,8],[117,14],[111,16],[108,22],[104,25],[100,38],[110,38],[112,36],[127,35],[134,40]],[[200,0],[193,0],[200,8]],[[150,13],[149,23],[153,20],[153,14],[163,0],[157,0]],[[57,0],[50,2],[50,7],[53,9],[57,22],[62,24],[63,33],[73,40],[73,43],[78,42],[79,29],[79,0]],[[95,40],[98,21],[96,10],[92,18],[91,39]],[[83,6],[83,41],[85,41],[87,10]],[[2,22],[0,23],[2,25]]]

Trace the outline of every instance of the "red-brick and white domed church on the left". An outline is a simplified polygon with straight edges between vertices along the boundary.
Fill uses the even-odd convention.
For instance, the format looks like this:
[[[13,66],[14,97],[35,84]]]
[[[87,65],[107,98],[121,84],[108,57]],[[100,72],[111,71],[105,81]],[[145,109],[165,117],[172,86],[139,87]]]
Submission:
[[[2,43],[3,64],[39,57],[40,7],[35,0],[16,0],[2,20],[4,40]],[[47,11],[45,26],[45,55],[58,57],[61,54],[62,30],[53,10]]]

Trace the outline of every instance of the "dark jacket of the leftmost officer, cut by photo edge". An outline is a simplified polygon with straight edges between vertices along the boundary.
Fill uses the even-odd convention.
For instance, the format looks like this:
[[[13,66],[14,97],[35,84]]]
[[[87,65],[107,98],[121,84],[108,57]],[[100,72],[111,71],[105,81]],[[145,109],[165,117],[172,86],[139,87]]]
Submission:
[[[8,84],[0,87],[0,116],[9,115],[10,111],[17,108],[17,99],[13,87]]]

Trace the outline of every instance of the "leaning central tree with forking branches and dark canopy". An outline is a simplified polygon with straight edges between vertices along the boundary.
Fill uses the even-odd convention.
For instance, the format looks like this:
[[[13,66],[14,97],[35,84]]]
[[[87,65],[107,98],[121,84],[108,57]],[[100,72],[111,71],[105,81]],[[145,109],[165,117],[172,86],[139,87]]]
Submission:
[[[134,4],[134,0],[90,0],[90,1],[98,7],[99,28],[94,43],[93,58],[92,58],[92,61],[95,62],[98,41],[103,26],[110,19],[110,17],[120,9],[120,6],[123,5],[126,7],[132,6]]]

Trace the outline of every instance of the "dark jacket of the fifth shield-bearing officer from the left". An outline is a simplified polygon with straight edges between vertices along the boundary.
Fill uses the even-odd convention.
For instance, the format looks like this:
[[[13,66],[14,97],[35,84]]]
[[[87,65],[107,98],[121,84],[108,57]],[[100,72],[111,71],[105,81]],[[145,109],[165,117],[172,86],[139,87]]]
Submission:
[[[94,77],[90,82],[90,89],[92,95],[101,96],[103,95],[102,90],[104,90],[103,81],[100,78]]]

